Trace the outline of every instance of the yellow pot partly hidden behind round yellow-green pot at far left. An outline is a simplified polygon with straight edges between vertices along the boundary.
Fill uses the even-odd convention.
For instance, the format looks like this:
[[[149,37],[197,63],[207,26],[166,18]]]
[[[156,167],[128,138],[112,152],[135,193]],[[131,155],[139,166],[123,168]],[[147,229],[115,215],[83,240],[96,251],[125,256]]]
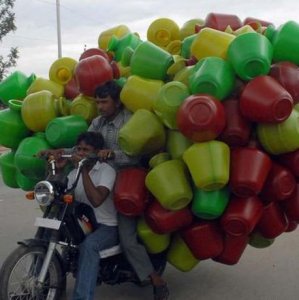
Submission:
[[[41,91],[49,91],[56,98],[59,98],[63,96],[64,88],[62,84],[46,78],[37,77],[27,89],[27,95],[35,94],[36,92]]]

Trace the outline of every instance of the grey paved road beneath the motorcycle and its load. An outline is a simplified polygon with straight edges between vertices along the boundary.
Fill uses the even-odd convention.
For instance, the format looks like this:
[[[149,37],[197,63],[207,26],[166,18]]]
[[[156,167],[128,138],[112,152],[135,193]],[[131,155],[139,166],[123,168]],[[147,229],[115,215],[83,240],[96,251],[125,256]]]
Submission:
[[[25,200],[24,192],[7,188],[0,178],[0,265],[16,241],[33,235],[33,222],[40,211],[35,202]],[[0,274],[1,276],[1,274]],[[195,270],[182,273],[167,267],[165,278],[172,300],[222,299],[288,299],[299,295],[298,230],[283,234],[266,249],[248,246],[240,262],[226,266],[202,261]],[[70,299],[73,280],[68,281]],[[150,300],[151,288],[131,284],[101,286],[96,299]]]

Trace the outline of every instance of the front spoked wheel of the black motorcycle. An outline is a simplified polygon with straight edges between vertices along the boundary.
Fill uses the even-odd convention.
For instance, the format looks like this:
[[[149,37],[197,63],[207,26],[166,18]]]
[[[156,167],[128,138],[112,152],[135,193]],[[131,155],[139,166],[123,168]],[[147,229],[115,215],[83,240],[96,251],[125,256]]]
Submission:
[[[37,269],[41,267],[46,249],[19,246],[5,260],[0,270],[0,299],[58,300],[66,288],[66,278],[56,255],[50,262],[46,279],[37,287]]]

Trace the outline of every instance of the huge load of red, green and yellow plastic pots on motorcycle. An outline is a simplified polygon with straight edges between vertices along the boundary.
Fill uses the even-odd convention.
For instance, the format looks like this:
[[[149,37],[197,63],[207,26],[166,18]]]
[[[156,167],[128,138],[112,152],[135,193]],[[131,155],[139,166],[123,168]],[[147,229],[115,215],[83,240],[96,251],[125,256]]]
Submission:
[[[298,53],[295,21],[159,18],[146,40],[109,28],[48,78],[15,71],[0,83],[3,181],[32,189],[45,173],[35,155],[72,147],[98,115],[95,88],[116,80],[133,113],[120,146],[148,158],[118,173],[116,208],[181,271],[236,264],[247,245],[270,246],[299,222]]]

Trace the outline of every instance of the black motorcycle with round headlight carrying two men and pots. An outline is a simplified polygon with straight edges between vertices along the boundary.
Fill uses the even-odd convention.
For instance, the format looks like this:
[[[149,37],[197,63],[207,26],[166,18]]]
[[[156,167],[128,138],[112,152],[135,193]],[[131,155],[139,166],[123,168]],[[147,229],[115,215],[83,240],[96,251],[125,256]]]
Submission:
[[[69,158],[70,155],[63,155]],[[48,166],[46,180],[38,182],[26,197],[35,199],[43,210],[37,217],[34,238],[19,241],[4,261],[0,274],[0,299],[61,299],[66,291],[67,276],[76,276],[79,245],[96,226],[90,206],[74,201],[82,167],[88,160],[79,162],[74,184],[68,188],[67,177],[57,172],[54,157],[45,157]],[[89,161],[90,163],[90,161]],[[100,251],[100,271],[97,283],[110,285],[132,282],[143,286],[120,245]],[[165,253],[149,254],[155,270],[162,274],[166,266]]]

